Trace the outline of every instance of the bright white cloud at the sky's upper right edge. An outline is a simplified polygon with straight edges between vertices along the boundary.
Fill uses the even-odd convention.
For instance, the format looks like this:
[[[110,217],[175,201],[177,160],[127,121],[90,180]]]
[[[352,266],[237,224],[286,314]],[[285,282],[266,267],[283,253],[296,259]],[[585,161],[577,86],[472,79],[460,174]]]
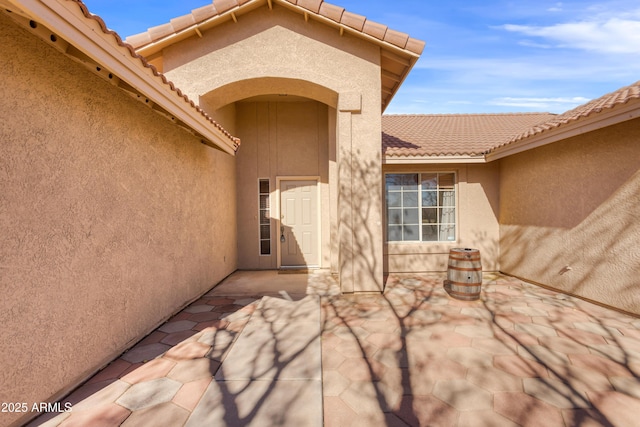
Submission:
[[[554,42],[557,47],[600,53],[640,53],[640,20],[608,18],[550,26],[513,25],[500,27],[506,31]]]

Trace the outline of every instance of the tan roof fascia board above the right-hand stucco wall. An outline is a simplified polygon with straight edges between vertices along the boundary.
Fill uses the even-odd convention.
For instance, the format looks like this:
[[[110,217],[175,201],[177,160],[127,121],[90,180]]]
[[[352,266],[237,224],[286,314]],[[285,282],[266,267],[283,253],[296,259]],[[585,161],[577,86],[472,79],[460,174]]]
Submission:
[[[640,101],[631,100],[624,106],[613,108],[611,111],[596,113],[582,120],[562,124],[557,128],[549,129],[537,135],[499,147],[486,154],[486,159],[487,162],[502,159],[638,117],[640,117]]]

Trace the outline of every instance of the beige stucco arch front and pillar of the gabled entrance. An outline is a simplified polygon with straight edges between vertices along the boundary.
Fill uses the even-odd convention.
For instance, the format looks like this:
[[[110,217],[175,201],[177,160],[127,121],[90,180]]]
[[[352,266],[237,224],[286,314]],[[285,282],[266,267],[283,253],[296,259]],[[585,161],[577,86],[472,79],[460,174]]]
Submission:
[[[336,197],[323,213],[332,217],[331,268],[344,292],[381,291],[380,48],[265,4],[237,23],[168,47],[162,60],[167,76],[211,110],[267,94],[330,107],[336,160],[329,165],[329,185]]]

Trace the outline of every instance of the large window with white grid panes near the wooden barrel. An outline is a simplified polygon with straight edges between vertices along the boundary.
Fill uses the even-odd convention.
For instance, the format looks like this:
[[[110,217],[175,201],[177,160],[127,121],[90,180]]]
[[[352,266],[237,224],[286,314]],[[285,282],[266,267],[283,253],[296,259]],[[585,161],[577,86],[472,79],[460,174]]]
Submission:
[[[455,181],[452,172],[387,174],[387,241],[455,241]]]

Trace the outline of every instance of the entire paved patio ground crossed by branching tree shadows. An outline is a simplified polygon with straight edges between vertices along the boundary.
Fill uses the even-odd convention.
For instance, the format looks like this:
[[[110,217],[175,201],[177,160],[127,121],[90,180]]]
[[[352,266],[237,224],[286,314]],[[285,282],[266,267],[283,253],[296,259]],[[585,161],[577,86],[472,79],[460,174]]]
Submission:
[[[60,426],[632,426],[640,319],[499,274],[340,295],[236,272],[61,402]]]

